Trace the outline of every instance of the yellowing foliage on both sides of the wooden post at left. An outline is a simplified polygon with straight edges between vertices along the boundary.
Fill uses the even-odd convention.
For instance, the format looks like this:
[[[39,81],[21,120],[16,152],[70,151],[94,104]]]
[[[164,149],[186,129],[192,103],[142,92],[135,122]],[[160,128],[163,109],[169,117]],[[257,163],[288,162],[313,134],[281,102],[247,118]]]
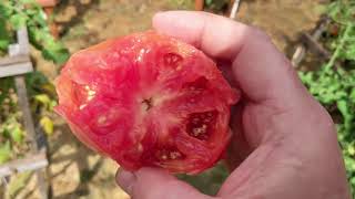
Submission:
[[[53,85],[39,72],[27,74],[26,82],[31,109],[39,113],[34,118],[39,121],[44,133],[51,135],[54,130],[51,113],[57,105]],[[0,164],[19,158],[29,149],[27,134],[20,121],[21,112],[13,78],[0,78]]]

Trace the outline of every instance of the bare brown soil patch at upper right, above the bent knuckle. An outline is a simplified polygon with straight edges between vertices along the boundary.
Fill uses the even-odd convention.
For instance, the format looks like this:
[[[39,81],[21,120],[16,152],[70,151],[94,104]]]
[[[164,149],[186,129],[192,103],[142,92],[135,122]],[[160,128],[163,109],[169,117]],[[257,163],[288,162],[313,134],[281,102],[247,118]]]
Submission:
[[[237,19],[264,30],[288,56],[301,32],[314,29],[321,15],[321,0],[244,0]]]

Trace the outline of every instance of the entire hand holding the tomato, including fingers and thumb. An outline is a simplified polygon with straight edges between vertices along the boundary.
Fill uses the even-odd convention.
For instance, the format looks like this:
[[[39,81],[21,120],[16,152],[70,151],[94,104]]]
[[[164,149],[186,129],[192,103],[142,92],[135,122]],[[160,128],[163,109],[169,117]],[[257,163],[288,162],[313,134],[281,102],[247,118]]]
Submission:
[[[331,116],[266,34],[191,11],[158,13],[153,27],[229,63],[222,71],[243,92],[231,118],[234,137],[229,159],[235,169],[216,197],[202,195],[162,169],[134,174],[119,169],[116,181],[132,198],[351,198]]]

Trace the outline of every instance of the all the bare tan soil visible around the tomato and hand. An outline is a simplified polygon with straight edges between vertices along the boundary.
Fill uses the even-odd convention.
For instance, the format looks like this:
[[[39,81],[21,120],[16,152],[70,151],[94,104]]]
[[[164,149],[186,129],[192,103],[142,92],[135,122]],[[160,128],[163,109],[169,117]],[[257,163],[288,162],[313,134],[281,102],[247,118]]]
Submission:
[[[192,10],[191,0],[62,0],[55,21],[70,52],[109,38],[151,28],[151,17],[163,10]],[[265,30],[277,48],[288,56],[302,31],[314,28],[320,18],[316,0],[244,0],[237,20]],[[32,51],[38,70],[53,78],[52,63]],[[118,165],[81,145],[60,118],[49,138],[49,181],[55,199],[129,198],[114,182]],[[32,180],[33,181],[33,180]],[[34,180],[36,181],[36,180]],[[37,191],[23,190],[17,198],[38,198]]]

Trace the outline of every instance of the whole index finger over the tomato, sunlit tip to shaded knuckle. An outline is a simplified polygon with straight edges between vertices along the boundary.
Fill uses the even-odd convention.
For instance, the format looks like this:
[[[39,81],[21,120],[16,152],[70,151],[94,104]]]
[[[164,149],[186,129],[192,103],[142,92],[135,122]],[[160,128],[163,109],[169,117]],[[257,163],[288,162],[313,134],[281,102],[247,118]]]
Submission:
[[[191,11],[158,13],[153,27],[158,32],[194,44],[214,59],[232,61],[237,85],[251,101],[277,100],[292,105],[300,92],[306,93],[287,59],[268,36],[254,28]]]

